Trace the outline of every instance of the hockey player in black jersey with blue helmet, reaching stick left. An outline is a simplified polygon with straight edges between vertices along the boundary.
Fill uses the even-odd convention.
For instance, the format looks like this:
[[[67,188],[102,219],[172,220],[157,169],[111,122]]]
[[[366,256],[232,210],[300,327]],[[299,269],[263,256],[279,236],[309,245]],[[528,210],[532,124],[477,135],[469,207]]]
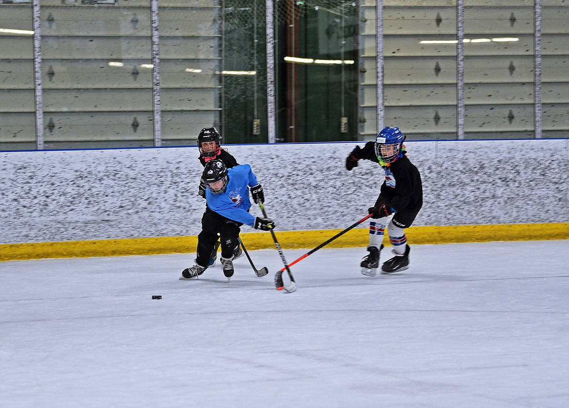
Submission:
[[[405,155],[405,136],[398,127],[384,127],[376,141],[368,141],[363,148],[356,146],[346,159],[346,169],[352,170],[358,160],[371,160],[385,171],[381,193],[369,214],[374,221],[369,223],[369,254],[361,262],[361,273],[376,276],[384,231],[387,226],[389,241],[395,256],[381,267],[381,273],[399,272],[409,268],[409,252],[405,228],[411,226],[423,205],[423,188],[419,170]],[[389,221],[389,216],[393,218]]]

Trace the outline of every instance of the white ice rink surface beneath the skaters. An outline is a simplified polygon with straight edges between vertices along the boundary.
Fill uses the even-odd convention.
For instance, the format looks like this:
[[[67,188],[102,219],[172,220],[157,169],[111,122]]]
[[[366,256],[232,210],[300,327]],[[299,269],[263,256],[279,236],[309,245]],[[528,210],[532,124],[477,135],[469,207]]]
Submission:
[[[193,253],[0,263],[0,406],[569,407],[569,241],[365,254],[320,249],[295,293],[276,249],[230,283],[179,281]]]

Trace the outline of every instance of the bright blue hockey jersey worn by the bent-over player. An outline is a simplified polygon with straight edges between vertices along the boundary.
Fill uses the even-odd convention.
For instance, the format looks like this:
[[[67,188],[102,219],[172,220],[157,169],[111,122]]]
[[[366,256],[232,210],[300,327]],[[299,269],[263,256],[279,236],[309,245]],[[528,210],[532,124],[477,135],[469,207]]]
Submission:
[[[255,224],[255,216],[248,213],[251,208],[249,187],[259,184],[251,166],[241,164],[227,169],[229,182],[221,194],[213,194],[209,186],[205,189],[208,207],[225,218],[241,222],[251,227]]]

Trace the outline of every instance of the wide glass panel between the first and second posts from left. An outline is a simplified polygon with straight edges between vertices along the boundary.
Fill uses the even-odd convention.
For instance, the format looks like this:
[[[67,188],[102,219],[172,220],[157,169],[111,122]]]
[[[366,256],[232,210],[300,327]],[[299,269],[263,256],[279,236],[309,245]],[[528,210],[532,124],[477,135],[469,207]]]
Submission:
[[[150,0],[42,0],[44,145],[154,145]]]

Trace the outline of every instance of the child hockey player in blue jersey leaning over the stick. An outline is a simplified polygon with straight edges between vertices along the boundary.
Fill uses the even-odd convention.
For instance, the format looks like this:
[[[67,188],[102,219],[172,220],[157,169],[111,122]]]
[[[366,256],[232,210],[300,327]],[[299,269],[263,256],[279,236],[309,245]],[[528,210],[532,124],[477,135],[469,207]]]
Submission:
[[[219,234],[223,274],[230,281],[240,227],[247,224],[257,230],[269,231],[275,227],[275,223],[269,218],[249,214],[249,190],[254,202],[265,202],[265,194],[248,164],[228,169],[223,161],[211,160],[205,165],[201,178],[207,186],[207,208],[201,218],[201,232],[197,236],[196,264],[184,269],[180,280],[192,279],[204,273]]]

